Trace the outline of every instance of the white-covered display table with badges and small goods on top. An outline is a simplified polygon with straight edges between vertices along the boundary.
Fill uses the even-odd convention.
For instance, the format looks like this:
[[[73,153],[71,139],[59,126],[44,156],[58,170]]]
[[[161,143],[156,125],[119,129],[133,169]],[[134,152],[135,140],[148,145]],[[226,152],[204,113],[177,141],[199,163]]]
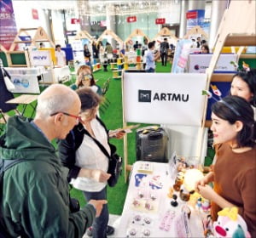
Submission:
[[[140,170],[146,163],[152,173]],[[137,161],[133,164],[116,237],[204,237],[200,212],[191,209],[186,227],[182,211],[188,206],[178,193],[178,206],[171,206],[173,199],[167,195],[173,184],[170,174],[166,163]]]

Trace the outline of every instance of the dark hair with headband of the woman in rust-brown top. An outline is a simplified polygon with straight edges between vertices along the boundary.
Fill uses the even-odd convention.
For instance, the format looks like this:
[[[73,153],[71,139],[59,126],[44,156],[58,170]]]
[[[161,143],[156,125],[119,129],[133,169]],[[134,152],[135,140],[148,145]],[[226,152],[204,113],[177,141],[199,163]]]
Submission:
[[[219,118],[234,124],[240,121],[243,127],[236,135],[238,147],[255,145],[256,123],[252,106],[246,99],[238,96],[227,96],[212,105],[212,112]]]

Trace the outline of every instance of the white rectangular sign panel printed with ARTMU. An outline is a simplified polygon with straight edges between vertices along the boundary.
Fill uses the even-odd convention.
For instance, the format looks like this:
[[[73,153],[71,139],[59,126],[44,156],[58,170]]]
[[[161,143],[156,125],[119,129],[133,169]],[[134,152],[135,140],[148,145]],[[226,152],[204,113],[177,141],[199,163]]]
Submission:
[[[124,73],[125,122],[200,126],[206,74]]]

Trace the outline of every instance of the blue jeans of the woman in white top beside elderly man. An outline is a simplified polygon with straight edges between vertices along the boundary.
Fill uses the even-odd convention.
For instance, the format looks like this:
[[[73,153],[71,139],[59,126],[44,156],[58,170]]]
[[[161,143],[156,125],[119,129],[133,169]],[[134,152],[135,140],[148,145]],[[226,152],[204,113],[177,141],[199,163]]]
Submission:
[[[87,201],[90,199],[107,200],[107,186],[99,192],[84,191],[84,196]],[[94,220],[92,224],[92,237],[93,238],[107,238],[107,225],[108,225],[108,204],[104,204],[101,215]]]

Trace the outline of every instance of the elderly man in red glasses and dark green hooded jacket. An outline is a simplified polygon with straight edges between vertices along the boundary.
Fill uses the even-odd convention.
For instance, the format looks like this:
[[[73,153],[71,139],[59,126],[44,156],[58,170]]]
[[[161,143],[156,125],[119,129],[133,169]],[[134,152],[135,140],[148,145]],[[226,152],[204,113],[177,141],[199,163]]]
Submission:
[[[24,161],[3,174],[0,236],[82,237],[102,212],[105,200],[70,210],[67,171],[51,144],[52,139],[65,139],[79,122],[80,107],[78,94],[55,84],[39,95],[34,120],[9,119],[0,138],[0,156],[3,161]]]

